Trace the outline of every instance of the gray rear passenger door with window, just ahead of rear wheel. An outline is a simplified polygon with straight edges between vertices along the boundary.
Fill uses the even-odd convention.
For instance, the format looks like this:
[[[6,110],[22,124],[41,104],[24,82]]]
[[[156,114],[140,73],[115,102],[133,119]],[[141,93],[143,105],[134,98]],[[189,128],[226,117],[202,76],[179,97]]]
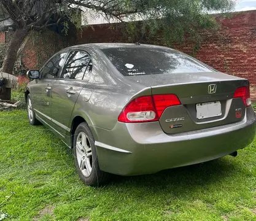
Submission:
[[[52,122],[55,130],[63,137],[70,131],[69,120],[80,91],[88,83],[85,72],[90,60],[87,52],[72,50],[69,52],[60,77],[53,83]]]

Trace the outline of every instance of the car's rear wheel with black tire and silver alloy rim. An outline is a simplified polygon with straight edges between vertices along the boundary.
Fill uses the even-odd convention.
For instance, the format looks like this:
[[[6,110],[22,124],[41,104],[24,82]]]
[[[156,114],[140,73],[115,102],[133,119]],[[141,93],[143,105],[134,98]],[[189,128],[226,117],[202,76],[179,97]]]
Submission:
[[[87,123],[83,122],[77,126],[73,147],[74,161],[80,179],[90,186],[106,183],[110,174],[99,169],[95,139]]]

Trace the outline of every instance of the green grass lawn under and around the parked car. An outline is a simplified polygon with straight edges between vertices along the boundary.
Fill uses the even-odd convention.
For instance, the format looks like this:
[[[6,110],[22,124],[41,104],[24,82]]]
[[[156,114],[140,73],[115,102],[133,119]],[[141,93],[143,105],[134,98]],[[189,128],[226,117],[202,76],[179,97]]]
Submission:
[[[256,220],[255,147],[91,188],[50,131],[0,112],[0,220]]]

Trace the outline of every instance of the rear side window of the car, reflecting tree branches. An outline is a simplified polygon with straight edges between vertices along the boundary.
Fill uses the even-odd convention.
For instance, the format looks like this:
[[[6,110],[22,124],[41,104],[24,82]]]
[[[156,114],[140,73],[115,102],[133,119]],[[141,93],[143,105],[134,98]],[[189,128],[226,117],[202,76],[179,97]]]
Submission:
[[[89,63],[90,56],[87,53],[71,52],[61,73],[61,79],[82,80]]]

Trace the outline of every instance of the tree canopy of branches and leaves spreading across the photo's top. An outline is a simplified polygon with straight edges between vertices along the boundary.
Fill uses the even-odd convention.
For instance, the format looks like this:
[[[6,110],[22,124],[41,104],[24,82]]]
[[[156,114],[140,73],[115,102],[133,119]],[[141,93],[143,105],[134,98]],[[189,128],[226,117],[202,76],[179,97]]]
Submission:
[[[168,41],[182,41],[185,33],[196,36],[200,28],[215,28],[209,12],[227,12],[235,5],[233,0],[0,0],[0,3],[17,28],[40,30],[60,25],[63,18],[79,27],[81,10],[90,9],[93,11],[90,17],[95,19],[102,15],[107,20],[141,20],[142,34],[153,35],[161,29]]]

